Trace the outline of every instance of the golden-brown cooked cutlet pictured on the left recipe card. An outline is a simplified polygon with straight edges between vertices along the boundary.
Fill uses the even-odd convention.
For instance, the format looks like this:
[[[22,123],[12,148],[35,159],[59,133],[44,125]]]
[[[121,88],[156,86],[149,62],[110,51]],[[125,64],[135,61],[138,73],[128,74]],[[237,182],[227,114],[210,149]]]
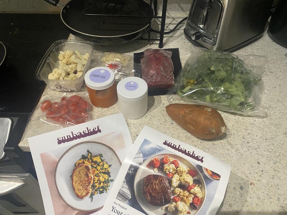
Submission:
[[[92,192],[94,176],[90,165],[80,164],[72,173],[72,186],[78,198],[84,199]]]

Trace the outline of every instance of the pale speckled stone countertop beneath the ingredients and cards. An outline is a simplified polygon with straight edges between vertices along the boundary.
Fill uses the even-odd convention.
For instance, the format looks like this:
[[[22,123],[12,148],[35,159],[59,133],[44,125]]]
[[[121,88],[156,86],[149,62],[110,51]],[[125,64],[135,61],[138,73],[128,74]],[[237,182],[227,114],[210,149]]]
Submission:
[[[177,23],[179,20],[168,20],[168,23]],[[173,27],[173,24],[168,26]],[[184,64],[191,43],[185,39],[182,29],[183,26],[164,38],[164,48],[179,48]],[[155,43],[150,45],[146,41],[133,41],[95,48],[132,55],[133,52],[157,47]],[[262,96],[262,103],[270,107],[268,117],[242,117],[220,112],[229,128],[227,137],[222,140],[204,141],[174,123],[165,112],[167,98],[155,96],[148,98],[148,112],[144,117],[137,120],[126,119],[129,131],[134,141],[142,128],[148,125],[231,164],[226,195],[217,214],[287,214],[287,49],[272,41],[265,32],[260,40],[236,51],[235,54],[269,55],[263,77],[265,93]],[[42,98],[62,94],[46,88]],[[106,109],[94,108],[92,115],[97,119],[118,112],[116,103]],[[38,121],[37,114],[34,113],[31,123]],[[48,127],[28,128],[27,135],[33,136],[50,130]],[[21,141],[19,146],[22,150],[29,151],[27,140]]]

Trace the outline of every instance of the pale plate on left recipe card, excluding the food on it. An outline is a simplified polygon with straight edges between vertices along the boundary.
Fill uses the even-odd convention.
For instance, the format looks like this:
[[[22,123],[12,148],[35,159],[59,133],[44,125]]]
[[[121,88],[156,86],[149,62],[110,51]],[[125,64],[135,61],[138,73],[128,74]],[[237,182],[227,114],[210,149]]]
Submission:
[[[77,198],[72,187],[71,174],[75,168],[75,163],[82,155],[87,155],[90,150],[92,155],[103,154],[105,161],[110,165],[111,179],[115,179],[121,167],[120,160],[114,150],[103,143],[87,141],[78,143],[60,157],[55,170],[55,183],[57,190],[64,202],[71,208],[79,211],[95,211],[101,209],[108,198],[109,190],[114,182],[110,182],[109,190],[103,194],[94,195],[94,200],[88,196],[85,199]]]

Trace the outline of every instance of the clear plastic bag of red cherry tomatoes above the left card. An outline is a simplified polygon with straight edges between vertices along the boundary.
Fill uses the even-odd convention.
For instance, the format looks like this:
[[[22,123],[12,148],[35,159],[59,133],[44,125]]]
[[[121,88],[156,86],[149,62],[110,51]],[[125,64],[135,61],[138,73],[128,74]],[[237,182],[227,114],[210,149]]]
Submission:
[[[30,116],[22,136],[22,145],[28,138],[50,131],[92,120],[91,105],[87,94],[64,93],[43,98]]]

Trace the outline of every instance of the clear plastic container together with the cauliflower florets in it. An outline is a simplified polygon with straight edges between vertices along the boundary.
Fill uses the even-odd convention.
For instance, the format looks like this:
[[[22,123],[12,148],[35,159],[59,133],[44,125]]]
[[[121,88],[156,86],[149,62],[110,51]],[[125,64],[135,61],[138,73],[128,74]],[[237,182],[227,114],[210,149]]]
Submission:
[[[89,41],[55,41],[38,65],[36,79],[45,81],[48,87],[53,90],[64,92],[80,90],[84,82],[85,72],[90,66],[93,46],[93,43]],[[73,51],[73,54],[67,50]],[[85,65],[83,66],[81,62]],[[82,73],[78,72],[77,69]]]

